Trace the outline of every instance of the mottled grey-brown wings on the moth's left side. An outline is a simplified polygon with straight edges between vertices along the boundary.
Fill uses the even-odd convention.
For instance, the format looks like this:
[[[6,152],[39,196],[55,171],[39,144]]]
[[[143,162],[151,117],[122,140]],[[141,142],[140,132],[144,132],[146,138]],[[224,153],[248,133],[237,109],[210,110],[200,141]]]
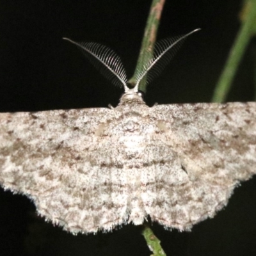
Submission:
[[[109,191],[111,173],[93,162],[100,123],[111,119],[105,108],[1,113],[0,184],[29,195],[40,214],[71,232],[122,223],[126,207]]]

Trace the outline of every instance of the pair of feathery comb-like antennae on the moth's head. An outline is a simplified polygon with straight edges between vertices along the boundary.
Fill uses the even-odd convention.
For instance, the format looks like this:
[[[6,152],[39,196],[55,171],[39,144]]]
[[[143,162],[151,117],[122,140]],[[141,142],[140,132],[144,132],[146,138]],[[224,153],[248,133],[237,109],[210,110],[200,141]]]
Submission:
[[[127,77],[124,65],[122,64],[120,57],[114,51],[105,45],[97,43],[78,43],[65,37],[63,37],[63,39],[75,44],[83,52],[84,56],[91,61],[94,67],[99,69],[102,75],[110,79],[113,84],[122,84],[125,92],[128,92],[129,90],[138,92],[138,86],[141,79],[147,75],[148,83],[149,81],[152,81],[152,79],[156,78],[166,65],[168,65],[170,60],[172,60],[173,56],[179,50],[186,38],[199,30],[200,29],[195,29],[186,35],[174,36],[157,42],[152,60],[148,61],[148,63],[144,65],[143,70],[138,74],[138,77],[136,77],[136,85],[132,89],[129,89],[127,86]]]

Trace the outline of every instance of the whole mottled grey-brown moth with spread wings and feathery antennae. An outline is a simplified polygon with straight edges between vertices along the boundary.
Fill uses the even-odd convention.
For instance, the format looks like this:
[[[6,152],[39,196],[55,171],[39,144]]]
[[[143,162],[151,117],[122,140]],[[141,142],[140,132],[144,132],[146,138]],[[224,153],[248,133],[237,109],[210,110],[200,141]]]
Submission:
[[[212,218],[256,173],[256,103],[149,108],[138,92],[195,31],[156,44],[131,89],[115,52],[65,38],[125,93],[113,109],[0,113],[1,186],[29,196],[38,214],[74,234],[148,217],[190,230]]]

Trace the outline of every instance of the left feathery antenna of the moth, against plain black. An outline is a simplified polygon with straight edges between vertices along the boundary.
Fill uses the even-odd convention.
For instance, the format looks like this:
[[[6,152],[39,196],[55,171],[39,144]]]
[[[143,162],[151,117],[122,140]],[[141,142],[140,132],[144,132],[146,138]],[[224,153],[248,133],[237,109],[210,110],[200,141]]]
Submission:
[[[124,65],[120,57],[105,45],[97,43],[74,42],[68,38],[63,37],[72,44],[75,44],[88,58],[89,61],[100,70],[103,76],[110,79],[113,84],[124,86],[125,92],[129,91],[127,87],[127,77]],[[102,65],[101,65],[102,64]]]

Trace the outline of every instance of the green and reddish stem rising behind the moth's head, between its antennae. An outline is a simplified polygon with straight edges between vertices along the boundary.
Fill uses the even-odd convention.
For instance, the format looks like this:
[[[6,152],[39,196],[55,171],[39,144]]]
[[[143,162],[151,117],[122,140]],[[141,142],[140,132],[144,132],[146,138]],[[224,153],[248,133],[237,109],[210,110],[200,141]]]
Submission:
[[[134,75],[128,82],[132,86],[135,86],[136,77],[143,71],[144,65],[146,65],[153,56],[154,44],[156,42],[157,36],[157,29],[159,26],[159,20],[161,18],[164,2],[165,0],[152,0],[150,12],[148,14],[147,25],[145,28],[143,41],[141,44],[140,55],[137,61]],[[147,76],[145,76],[140,82],[139,90],[141,90],[142,92],[147,91],[146,82]]]

